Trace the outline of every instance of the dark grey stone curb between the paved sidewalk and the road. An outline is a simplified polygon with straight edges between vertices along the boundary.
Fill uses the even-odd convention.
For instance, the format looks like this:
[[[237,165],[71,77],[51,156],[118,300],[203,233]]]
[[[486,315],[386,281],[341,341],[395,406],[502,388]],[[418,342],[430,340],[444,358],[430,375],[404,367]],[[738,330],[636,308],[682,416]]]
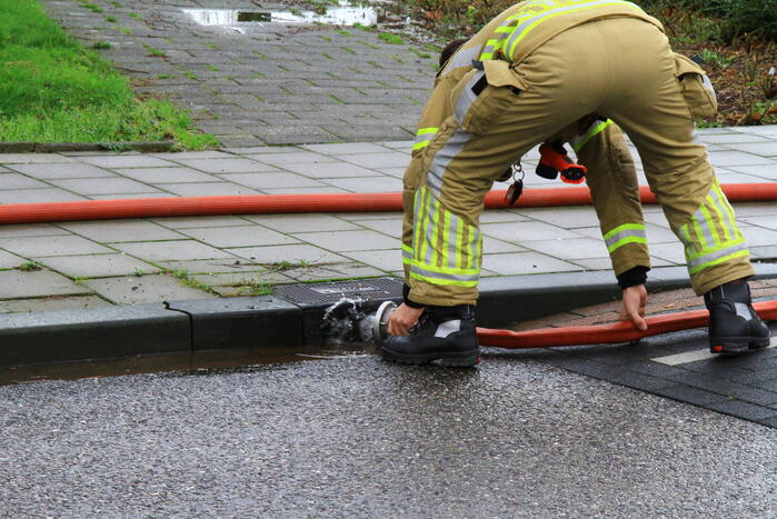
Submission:
[[[756,279],[777,278],[777,265],[755,267]],[[395,293],[365,301],[365,311],[401,299],[401,283],[391,281]],[[651,291],[687,287],[685,268],[651,271]],[[618,295],[609,272],[486,278],[480,285],[478,326],[509,327],[611,301]],[[330,306],[261,296],[0,315],[0,368],[227,348],[301,349],[320,342],[321,317]]]

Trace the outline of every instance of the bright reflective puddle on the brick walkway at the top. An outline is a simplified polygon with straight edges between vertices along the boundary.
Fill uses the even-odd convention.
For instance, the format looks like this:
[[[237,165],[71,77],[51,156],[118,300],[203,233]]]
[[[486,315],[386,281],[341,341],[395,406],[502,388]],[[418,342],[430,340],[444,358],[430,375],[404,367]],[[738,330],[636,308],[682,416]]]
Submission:
[[[338,6],[327,6],[326,12],[305,9],[289,10],[257,10],[243,11],[238,9],[183,9],[200,26],[230,27],[238,32],[246,28],[262,23],[313,24],[331,26],[373,26],[378,22],[378,12],[371,7],[352,6],[348,0],[339,0]]]

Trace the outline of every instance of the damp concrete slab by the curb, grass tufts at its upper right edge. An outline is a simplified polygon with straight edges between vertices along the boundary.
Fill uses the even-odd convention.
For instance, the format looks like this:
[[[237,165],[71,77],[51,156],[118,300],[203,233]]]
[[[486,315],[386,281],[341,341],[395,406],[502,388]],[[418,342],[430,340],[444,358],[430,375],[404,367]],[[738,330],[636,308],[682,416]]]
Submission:
[[[89,279],[83,283],[96,293],[118,305],[210,299],[213,297],[209,292],[186,287],[178,279],[163,275]]]

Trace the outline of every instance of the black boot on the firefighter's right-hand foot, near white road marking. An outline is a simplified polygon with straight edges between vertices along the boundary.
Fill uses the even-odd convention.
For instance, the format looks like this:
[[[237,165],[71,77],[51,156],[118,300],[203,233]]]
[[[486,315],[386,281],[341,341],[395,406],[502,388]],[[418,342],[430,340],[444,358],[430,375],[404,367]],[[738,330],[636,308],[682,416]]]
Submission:
[[[750,299],[750,287],[739,279],[704,295],[709,310],[709,350],[713,353],[741,353],[769,346],[769,328],[764,325]]]

